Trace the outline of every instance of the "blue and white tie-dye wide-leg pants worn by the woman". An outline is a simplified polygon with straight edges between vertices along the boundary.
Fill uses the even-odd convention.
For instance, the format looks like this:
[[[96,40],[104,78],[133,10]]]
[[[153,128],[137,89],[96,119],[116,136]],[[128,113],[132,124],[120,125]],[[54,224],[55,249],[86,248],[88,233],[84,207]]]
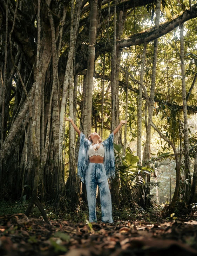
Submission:
[[[86,190],[89,207],[89,221],[97,222],[96,218],[96,188],[100,189],[102,221],[113,223],[111,194],[103,163],[89,163],[86,172]]]

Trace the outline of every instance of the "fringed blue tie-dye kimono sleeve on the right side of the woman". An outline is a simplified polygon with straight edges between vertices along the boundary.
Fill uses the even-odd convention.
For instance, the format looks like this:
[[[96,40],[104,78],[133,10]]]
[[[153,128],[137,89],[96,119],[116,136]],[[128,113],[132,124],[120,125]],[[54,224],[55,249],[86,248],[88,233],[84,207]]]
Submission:
[[[114,133],[101,143],[105,149],[104,167],[106,169],[107,178],[115,178],[115,157],[114,157]]]

